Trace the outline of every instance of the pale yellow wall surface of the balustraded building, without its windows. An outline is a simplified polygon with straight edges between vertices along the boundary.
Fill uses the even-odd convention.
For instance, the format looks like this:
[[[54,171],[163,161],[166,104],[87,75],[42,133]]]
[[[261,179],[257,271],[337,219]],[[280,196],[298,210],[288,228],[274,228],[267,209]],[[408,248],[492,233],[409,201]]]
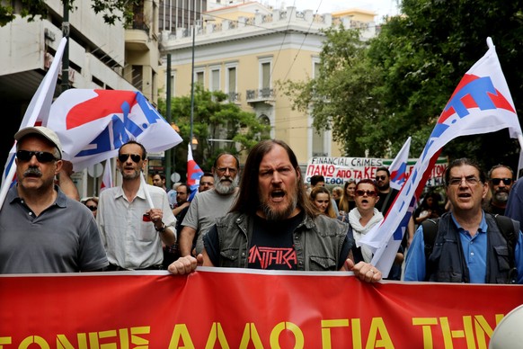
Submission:
[[[288,9],[288,11],[290,11]],[[288,15],[288,14],[287,14]],[[253,14],[251,14],[253,16]],[[347,21],[348,17],[345,18]],[[259,20],[259,19],[258,19]],[[195,71],[204,71],[205,87],[209,89],[211,68],[220,69],[220,89],[226,91],[226,64],[235,62],[237,67],[237,93],[241,94],[241,107],[258,116],[270,118],[271,137],[286,141],[297,153],[298,161],[305,164],[313,156],[312,118],[308,112],[292,110],[288,97],[278,91],[277,81],[304,81],[313,77],[314,61],[319,58],[324,35],[317,22],[314,29],[303,25],[302,18],[293,18],[278,27],[277,21],[235,28],[230,32],[203,32],[195,39]],[[262,25],[270,29],[259,29]],[[330,25],[330,24],[329,24]],[[227,37],[229,36],[230,39]],[[164,55],[171,53],[175,75],[172,90],[177,96],[191,92],[191,38],[164,42]],[[261,88],[260,59],[270,58],[271,87],[276,89],[274,100],[267,103],[248,103],[247,90]],[[165,59],[164,59],[165,62]],[[160,68],[160,88],[165,93],[165,67]],[[332,132],[324,132],[322,151],[330,157],[340,157],[340,147],[331,141]]]

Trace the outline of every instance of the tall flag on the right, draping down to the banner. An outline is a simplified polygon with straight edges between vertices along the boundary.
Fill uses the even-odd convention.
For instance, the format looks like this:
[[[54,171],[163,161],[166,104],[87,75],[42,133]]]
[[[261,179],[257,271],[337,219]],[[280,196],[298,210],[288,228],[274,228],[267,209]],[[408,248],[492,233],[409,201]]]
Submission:
[[[382,258],[386,246],[401,243],[415,203],[427,183],[441,148],[459,136],[507,128],[511,138],[518,138],[520,143],[523,139],[516,108],[491,38],[487,39],[487,44],[487,53],[466,72],[441,112],[429,141],[386,218],[379,228],[359,240],[360,245],[368,246],[374,252],[371,263],[382,271],[384,277],[388,276],[395,255],[388,254],[388,258]]]

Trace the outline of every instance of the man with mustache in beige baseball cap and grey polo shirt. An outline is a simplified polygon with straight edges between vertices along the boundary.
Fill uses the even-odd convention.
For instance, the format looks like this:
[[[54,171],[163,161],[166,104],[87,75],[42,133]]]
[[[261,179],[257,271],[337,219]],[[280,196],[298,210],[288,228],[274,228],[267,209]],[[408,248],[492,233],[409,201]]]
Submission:
[[[19,130],[16,185],[0,210],[0,273],[74,273],[108,265],[93,214],[69,199],[55,176],[62,146],[45,127]]]

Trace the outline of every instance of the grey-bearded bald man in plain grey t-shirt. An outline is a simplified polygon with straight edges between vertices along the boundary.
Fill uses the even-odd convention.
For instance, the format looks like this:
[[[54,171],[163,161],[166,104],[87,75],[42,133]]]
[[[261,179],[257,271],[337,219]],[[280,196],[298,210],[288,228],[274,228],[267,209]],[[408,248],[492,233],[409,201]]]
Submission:
[[[189,210],[182,222],[182,231],[178,237],[180,254],[192,254],[192,241],[196,236],[196,255],[203,250],[203,236],[215,224],[215,219],[225,216],[233,205],[240,177],[240,163],[231,154],[217,156],[212,174],[214,188],[206,192],[199,192],[189,206]]]

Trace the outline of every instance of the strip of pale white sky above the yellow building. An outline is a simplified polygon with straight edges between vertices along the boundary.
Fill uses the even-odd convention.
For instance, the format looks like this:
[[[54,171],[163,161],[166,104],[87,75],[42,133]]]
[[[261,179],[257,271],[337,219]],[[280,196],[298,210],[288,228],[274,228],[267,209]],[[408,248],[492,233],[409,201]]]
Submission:
[[[374,11],[377,14],[376,22],[382,22],[385,15],[398,13],[397,0],[258,0],[262,4],[270,4],[279,7],[284,4],[296,6],[297,10],[313,10],[318,13],[332,13],[333,11],[345,10],[348,8],[362,8]]]

